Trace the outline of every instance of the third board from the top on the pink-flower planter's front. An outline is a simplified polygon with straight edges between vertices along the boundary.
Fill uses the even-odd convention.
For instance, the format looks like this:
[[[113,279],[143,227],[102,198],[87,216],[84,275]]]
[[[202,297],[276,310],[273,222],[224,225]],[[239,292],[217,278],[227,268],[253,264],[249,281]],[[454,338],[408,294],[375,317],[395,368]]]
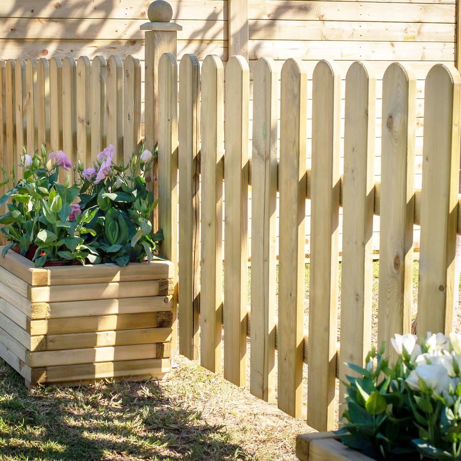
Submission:
[[[101,299],[88,301],[53,302],[47,311],[48,319],[113,314],[150,313],[173,308],[172,296]],[[38,319],[38,317],[32,317]]]

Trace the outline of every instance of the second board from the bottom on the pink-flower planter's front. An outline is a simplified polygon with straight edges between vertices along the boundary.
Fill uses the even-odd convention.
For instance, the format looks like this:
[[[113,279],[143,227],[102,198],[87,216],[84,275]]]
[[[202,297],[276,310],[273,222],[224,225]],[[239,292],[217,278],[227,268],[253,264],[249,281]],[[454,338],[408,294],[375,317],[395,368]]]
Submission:
[[[156,348],[152,344],[135,344],[131,346],[28,352],[26,354],[26,363],[31,367],[60,366],[107,361],[155,359],[155,357]]]

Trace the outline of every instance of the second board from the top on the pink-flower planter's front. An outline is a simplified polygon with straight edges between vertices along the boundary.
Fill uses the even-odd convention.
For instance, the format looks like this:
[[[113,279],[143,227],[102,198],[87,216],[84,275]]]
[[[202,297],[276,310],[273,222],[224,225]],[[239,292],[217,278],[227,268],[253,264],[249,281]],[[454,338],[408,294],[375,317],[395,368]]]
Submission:
[[[70,279],[71,280],[71,279]],[[158,296],[159,290],[168,281],[144,280],[139,282],[112,282],[102,284],[56,285],[32,287],[30,300],[33,302],[83,301],[136,296]],[[167,294],[167,291],[165,291]],[[1,291],[0,291],[1,295]]]

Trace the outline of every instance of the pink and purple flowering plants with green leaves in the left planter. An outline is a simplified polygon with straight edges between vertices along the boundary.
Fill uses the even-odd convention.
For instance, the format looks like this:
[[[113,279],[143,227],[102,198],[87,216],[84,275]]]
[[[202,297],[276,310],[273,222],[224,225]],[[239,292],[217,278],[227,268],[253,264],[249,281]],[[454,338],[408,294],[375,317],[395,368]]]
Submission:
[[[62,151],[30,156],[24,152],[16,181],[12,168],[12,189],[0,198],[7,211],[0,215],[1,232],[10,249],[35,261],[35,266],[52,261],[79,264],[115,263],[153,259],[161,231],[153,234],[150,214],[157,205],[144,180],[154,155],[141,150],[124,165],[114,160],[109,146],[97,155],[93,166],[72,166]],[[59,169],[71,171],[74,184],[58,182]],[[4,172],[6,175],[6,172]],[[8,178],[0,186],[7,184]]]

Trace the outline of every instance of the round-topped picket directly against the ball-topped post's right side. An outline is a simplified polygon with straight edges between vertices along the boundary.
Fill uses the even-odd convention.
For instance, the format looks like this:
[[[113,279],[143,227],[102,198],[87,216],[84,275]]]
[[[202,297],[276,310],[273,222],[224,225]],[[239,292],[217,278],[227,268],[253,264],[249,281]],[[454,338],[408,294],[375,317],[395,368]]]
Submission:
[[[165,53],[159,61],[159,226],[165,236],[160,253],[175,265],[172,354],[177,344],[177,166],[177,62]]]

